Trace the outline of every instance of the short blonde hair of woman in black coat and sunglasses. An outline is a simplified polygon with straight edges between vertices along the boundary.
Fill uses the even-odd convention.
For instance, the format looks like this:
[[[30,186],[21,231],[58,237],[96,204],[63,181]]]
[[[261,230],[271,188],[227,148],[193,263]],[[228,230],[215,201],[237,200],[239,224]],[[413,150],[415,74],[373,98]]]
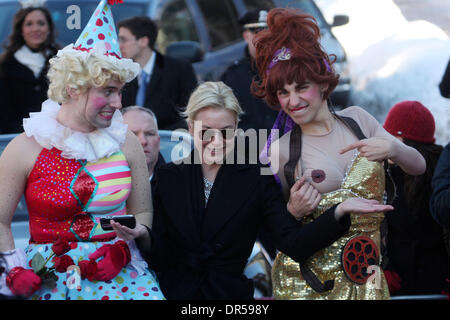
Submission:
[[[192,123],[197,112],[204,108],[215,107],[232,111],[236,115],[236,124],[244,113],[233,90],[222,81],[204,82],[191,94],[186,111],[182,116]]]

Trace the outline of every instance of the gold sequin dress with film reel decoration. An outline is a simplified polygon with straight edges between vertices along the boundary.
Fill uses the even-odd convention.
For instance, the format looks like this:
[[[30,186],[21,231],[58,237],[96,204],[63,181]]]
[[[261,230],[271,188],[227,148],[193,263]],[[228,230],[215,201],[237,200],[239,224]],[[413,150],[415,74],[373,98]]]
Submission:
[[[384,169],[381,163],[368,161],[366,158],[358,155],[344,178],[341,188],[323,194],[322,200],[312,214],[312,217],[308,216],[305,218],[304,223],[310,223],[313,219],[325,212],[326,209],[350,197],[362,197],[381,201],[384,186]],[[348,233],[306,260],[303,268],[308,268],[309,271],[312,271],[321,283],[325,283],[327,280],[333,281],[332,289],[322,293],[315,291],[307,283],[301,272],[299,263],[282,252],[279,252],[272,268],[273,297],[275,299],[314,300],[389,299],[386,279],[381,268],[378,267],[381,260],[379,256],[380,224],[383,218],[384,213],[351,214],[351,227]],[[357,238],[360,236],[362,237]],[[359,241],[360,247],[357,247],[358,244],[355,246],[355,242],[352,242],[352,239],[362,239],[362,242]],[[364,283],[359,284],[362,282],[361,279],[358,281],[357,276],[352,275],[351,272],[359,269],[356,274],[361,275],[361,267],[366,269],[361,263],[358,265],[358,258],[361,258],[361,255],[358,256],[358,250],[356,250],[364,251],[365,248],[374,249],[371,246],[364,247],[364,241],[366,240],[369,240],[371,244],[376,245],[378,248],[376,251],[378,261],[375,263],[372,261],[371,264],[373,265],[365,273],[366,275],[368,274],[366,279],[362,279]],[[361,245],[363,245],[362,248]],[[350,247],[353,250],[343,252],[344,247]],[[347,258],[344,259],[344,262],[342,262],[343,257]],[[347,266],[346,272],[343,266],[348,263],[353,263],[353,265]],[[350,280],[352,276],[354,280]]]

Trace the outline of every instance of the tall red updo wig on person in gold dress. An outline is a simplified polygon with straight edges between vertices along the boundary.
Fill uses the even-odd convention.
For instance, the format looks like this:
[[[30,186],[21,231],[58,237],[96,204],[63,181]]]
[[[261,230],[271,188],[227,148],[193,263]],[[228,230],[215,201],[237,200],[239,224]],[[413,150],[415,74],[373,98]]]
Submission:
[[[267,25],[254,40],[260,80],[253,81],[253,94],[264,98],[272,108],[278,108],[277,90],[285,84],[311,81],[328,85],[323,95],[324,100],[328,99],[339,75],[332,68],[336,56],[329,56],[320,45],[316,19],[297,9],[276,8],[269,11]],[[289,48],[291,58],[278,61],[269,69],[275,52],[283,47]]]

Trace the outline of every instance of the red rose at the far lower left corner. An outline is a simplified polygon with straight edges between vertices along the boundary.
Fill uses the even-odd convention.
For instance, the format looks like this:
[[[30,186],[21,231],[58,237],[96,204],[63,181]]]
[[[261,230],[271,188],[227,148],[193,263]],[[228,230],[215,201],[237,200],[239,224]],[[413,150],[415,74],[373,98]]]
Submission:
[[[42,280],[31,269],[13,268],[6,277],[6,285],[16,296],[31,296],[41,288]]]

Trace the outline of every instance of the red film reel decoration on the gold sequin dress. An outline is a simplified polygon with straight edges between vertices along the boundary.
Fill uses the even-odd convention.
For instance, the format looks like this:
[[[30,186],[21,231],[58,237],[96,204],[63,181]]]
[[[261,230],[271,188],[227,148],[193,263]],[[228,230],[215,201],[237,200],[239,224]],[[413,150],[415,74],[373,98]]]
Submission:
[[[347,277],[357,284],[365,284],[371,275],[367,273],[367,268],[378,265],[380,255],[377,245],[371,238],[355,236],[345,244],[341,260]]]

